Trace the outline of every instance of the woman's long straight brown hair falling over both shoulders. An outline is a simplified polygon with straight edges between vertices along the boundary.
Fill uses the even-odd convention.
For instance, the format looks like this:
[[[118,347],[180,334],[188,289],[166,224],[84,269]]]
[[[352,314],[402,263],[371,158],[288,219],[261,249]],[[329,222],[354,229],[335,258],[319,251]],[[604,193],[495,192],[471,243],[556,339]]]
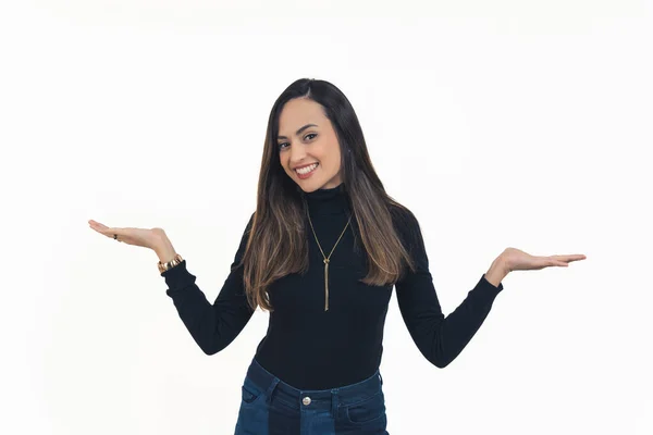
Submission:
[[[394,284],[405,272],[405,263],[415,270],[394,221],[411,213],[385,192],[352,103],[329,82],[300,78],[281,94],[270,112],[256,211],[248,225],[245,252],[234,266],[245,266],[243,284],[254,310],[261,307],[273,311],[267,294],[270,284],[291,273],[308,271],[306,203],[299,186],[284,172],[276,146],[281,111],[294,98],[308,98],[321,104],[337,135],[343,188],[368,257],[368,274],[360,281],[377,286]],[[410,226],[406,222],[405,225]]]

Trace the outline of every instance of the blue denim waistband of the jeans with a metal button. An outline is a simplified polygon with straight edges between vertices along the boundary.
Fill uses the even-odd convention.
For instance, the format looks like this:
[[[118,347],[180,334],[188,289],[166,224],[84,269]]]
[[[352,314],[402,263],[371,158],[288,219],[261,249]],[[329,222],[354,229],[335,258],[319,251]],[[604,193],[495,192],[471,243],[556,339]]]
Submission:
[[[263,369],[256,359],[247,369],[247,377],[261,391],[266,391],[269,401],[281,401],[293,409],[310,407],[310,409],[331,409],[348,406],[366,400],[379,393],[383,378],[379,370],[370,377],[356,384],[329,389],[299,389],[281,381]]]

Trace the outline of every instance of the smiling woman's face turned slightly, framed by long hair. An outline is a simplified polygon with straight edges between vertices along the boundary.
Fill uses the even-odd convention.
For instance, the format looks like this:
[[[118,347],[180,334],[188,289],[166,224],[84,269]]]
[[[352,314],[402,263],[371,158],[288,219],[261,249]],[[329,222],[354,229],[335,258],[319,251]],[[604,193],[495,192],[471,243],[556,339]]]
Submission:
[[[304,191],[329,189],[342,183],[337,137],[319,103],[306,98],[286,102],[279,117],[276,144],[281,165]],[[298,173],[296,169],[300,167],[309,172]]]

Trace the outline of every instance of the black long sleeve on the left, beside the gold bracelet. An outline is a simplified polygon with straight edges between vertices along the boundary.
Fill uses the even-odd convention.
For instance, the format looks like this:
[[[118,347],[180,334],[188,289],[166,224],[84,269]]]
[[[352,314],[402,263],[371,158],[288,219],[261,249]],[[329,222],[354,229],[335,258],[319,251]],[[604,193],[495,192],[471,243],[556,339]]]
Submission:
[[[229,346],[243,331],[254,310],[247,302],[243,285],[243,269],[234,269],[247,245],[254,214],[249,219],[236,251],[230,274],[213,304],[195,284],[195,275],[186,269],[186,261],[163,272],[168,290],[186,328],[206,355],[213,355]]]

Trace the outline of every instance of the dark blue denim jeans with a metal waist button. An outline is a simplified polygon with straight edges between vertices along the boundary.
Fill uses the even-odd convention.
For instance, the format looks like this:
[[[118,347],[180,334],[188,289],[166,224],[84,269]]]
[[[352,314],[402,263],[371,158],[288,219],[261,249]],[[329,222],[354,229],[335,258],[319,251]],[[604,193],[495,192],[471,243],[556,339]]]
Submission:
[[[383,378],[377,371],[337,388],[295,388],[252,359],[234,435],[389,435]]]

